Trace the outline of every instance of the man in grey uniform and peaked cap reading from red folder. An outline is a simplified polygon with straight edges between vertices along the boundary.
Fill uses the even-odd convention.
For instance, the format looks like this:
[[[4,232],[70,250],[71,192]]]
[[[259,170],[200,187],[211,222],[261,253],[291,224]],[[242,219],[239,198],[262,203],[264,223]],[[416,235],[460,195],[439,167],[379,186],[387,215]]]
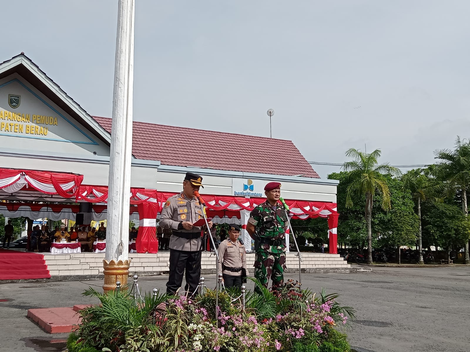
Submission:
[[[194,196],[199,191],[203,178],[191,172],[186,173],[183,191],[170,198],[164,204],[160,215],[160,226],[171,229],[170,237],[170,275],[166,283],[166,292],[175,294],[181,287],[186,272],[185,291],[192,295],[201,277],[201,231],[203,227],[193,226],[203,219],[203,206]],[[212,222],[209,222],[212,228]]]

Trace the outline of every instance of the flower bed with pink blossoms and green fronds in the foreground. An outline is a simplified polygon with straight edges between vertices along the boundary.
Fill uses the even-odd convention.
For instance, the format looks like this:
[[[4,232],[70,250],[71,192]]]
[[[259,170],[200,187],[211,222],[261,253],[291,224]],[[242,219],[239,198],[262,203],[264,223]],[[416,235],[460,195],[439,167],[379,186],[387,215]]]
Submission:
[[[257,283],[258,284],[258,283]],[[346,335],[354,310],[340,306],[337,295],[319,296],[286,283],[281,291],[261,287],[247,292],[245,309],[240,292],[219,292],[216,319],[215,291],[194,301],[184,296],[146,295],[136,304],[128,291],[85,294],[101,305],[81,311],[82,325],[71,334],[70,352],[349,352]]]

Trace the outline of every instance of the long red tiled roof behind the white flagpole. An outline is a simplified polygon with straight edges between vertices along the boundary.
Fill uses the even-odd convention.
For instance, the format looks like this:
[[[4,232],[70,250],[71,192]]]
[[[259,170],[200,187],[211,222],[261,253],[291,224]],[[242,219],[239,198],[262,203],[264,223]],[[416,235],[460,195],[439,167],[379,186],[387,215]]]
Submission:
[[[93,118],[111,133],[110,118]],[[132,138],[136,158],[163,165],[320,177],[289,140],[138,121],[133,122]]]

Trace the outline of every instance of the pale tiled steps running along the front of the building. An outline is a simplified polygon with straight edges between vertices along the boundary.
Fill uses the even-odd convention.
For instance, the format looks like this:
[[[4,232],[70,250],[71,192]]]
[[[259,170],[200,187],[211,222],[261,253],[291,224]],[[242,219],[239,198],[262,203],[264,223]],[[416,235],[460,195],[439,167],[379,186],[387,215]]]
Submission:
[[[201,266],[203,272],[215,270],[214,255],[203,252]],[[351,268],[339,254],[328,253],[301,253],[302,268]],[[160,272],[168,272],[169,252],[157,254],[129,253],[131,259],[130,273],[138,275],[155,275]],[[55,275],[99,275],[103,273],[104,253],[72,253],[72,254],[45,254],[47,268],[51,276]],[[247,266],[253,267],[255,255],[247,254]],[[296,253],[287,253],[288,269],[298,268],[298,257]]]

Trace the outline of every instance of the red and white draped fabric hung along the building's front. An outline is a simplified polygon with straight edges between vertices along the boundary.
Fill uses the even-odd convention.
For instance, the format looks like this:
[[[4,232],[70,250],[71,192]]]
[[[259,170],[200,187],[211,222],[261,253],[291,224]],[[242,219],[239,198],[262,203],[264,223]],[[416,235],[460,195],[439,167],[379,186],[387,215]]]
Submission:
[[[108,187],[82,185],[83,175],[57,173],[26,169],[0,168],[0,199],[35,200],[39,202],[80,202],[107,203]],[[168,198],[177,193],[157,192],[157,190],[131,188],[129,193],[130,219],[139,219],[138,248],[140,251],[157,253],[156,218]],[[47,195],[47,196],[45,196]],[[242,225],[245,246],[251,244],[246,230],[250,211],[265,201],[264,198],[244,198],[236,196],[203,196],[208,214],[214,223],[236,223]],[[294,219],[323,217],[328,218],[330,250],[336,248],[337,205],[329,202],[285,199]],[[64,218],[75,220],[79,206],[67,204],[3,203],[0,213],[8,217],[27,216],[31,219]],[[137,207],[135,207],[137,205]],[[134,207],[133,207],[134,206]],[[137,209],[136,209],[137,208]],[[92,207],[92,219],[106,219],[106,205],[95,204]],[[251,245],[250,245],[251,246]],[[251,248],[250,248],[251,249]],[[332,253],[332,252],[330,252]]]

